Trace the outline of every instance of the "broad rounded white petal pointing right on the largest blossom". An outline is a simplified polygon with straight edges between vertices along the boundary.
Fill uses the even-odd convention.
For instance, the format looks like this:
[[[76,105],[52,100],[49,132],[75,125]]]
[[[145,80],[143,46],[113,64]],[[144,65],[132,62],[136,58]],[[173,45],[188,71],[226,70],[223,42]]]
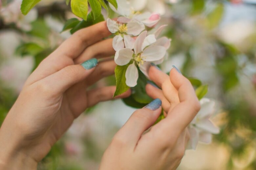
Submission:
[[[164,57],[166,49],[162,46],[149,46],[141,54],[144,61],[158,61]]]

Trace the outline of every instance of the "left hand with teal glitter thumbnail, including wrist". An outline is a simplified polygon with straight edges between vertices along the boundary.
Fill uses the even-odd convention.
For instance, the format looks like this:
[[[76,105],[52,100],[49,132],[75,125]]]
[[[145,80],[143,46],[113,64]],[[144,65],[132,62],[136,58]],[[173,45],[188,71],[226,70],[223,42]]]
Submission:
[[[79,30],[40,63],[0,129],[0,167],[36,169],[76,117],[113,99],[115,86],[87,90],[114,74],[113,59],[97,63],[115,54],[112,39],[101,41],[109,35],[106,22]]]

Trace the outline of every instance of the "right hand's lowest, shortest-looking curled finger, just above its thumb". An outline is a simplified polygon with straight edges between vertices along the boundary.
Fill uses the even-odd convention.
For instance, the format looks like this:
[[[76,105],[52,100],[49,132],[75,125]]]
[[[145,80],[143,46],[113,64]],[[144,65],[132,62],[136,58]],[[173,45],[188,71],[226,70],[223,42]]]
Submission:
[[[162,90],[154,87],[151,84],[146,85],[146,93],[153,99],[159,98],[162,101],[162,107],[165,112],[168,112],[170,108],[170,102],[164,97]]]

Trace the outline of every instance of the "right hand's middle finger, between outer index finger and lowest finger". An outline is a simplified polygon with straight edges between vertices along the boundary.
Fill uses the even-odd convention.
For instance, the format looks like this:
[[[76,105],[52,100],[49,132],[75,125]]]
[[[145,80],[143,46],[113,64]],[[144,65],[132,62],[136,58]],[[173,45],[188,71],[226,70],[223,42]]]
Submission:
[[[163,73],[157,66],[149,68],[149,77],[159,86],[163,91],[163,95],[171,104],[172,109],[179,103],[178,91],[173,86],[167,74]]]

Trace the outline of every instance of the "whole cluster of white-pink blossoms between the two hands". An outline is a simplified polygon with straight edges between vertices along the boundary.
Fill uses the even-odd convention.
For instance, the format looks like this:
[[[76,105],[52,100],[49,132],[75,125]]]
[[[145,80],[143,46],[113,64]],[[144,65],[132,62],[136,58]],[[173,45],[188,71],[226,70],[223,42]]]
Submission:
[[[116,50],[115,62],[119,66],[129,63],[126,70],[126,85],[137,85],[139,72],[148,77],[150,63],[160,64],[170,46],[166,37],[158,38],[166,25],[160,26],[153,34],[148,34],[147,28],[154,28],[160,21],[160,14],[135,11],[128,1],[119,1],[118,9],[112,8],[120,17],[117,21],[107,19],[107,26],[116,36],[113,48]]]

